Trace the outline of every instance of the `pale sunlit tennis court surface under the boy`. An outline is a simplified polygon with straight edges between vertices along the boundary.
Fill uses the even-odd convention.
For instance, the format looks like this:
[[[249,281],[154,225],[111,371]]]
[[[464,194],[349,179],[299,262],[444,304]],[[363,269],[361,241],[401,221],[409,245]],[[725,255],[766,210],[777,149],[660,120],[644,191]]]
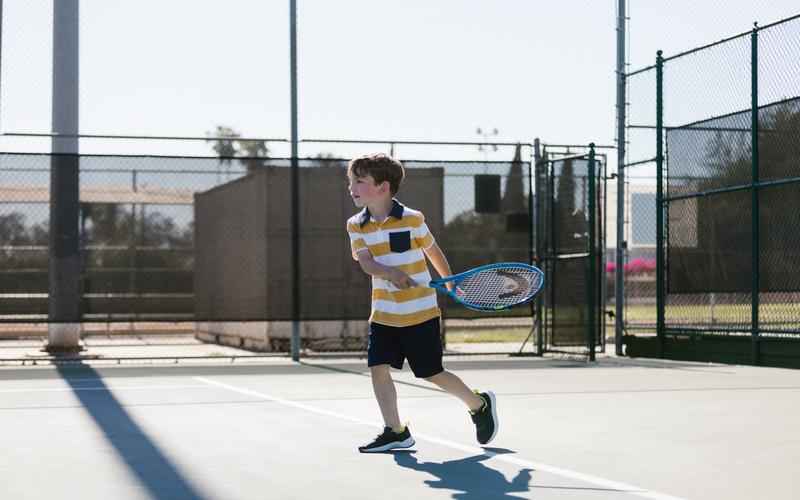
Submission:
[[[797,498],[800,371],[602,357],[446,359],[498,397],[395,372],[411,451],[379,432],[363,360],[0,368],[0,498]]]

